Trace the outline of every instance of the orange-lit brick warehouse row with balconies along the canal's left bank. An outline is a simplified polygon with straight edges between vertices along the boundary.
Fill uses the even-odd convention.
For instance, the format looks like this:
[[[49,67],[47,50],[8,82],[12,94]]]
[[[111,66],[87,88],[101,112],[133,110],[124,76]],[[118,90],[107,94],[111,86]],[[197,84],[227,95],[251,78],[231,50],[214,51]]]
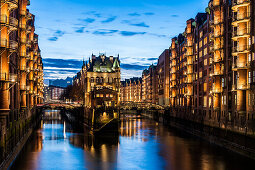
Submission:
[[[20,137],[24,135],[22,128],[29,126],[35,106],[43,102],[42,57],[29,4],[29,0],[1,1],[1,147],[13,142],[13,129],[20,131]],[[1,151],[5,153],[6,149]]]

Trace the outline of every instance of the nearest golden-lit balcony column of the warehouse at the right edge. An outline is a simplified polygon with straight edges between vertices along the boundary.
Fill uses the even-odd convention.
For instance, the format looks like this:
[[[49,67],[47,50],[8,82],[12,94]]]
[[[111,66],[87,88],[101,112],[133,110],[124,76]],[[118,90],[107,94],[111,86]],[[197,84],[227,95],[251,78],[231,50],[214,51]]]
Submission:
[[[233,113],[241,125],[254,120],[254,5],[252,0],[232,1]]]

